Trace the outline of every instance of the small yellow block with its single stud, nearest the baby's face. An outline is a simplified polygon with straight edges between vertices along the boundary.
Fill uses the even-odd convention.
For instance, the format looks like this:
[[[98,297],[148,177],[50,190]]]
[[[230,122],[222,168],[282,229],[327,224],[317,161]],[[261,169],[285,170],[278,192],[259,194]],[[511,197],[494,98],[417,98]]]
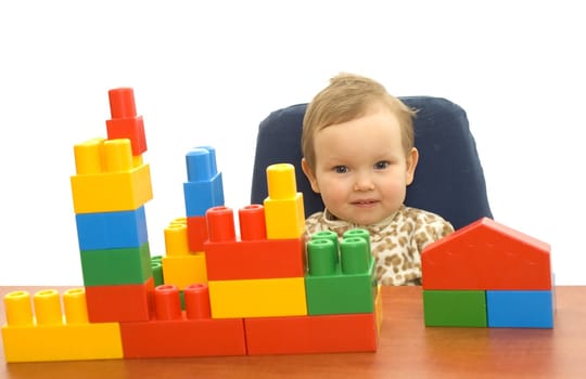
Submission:
[[[294,239],[305,232],[303,194],[297,192],[295,167],[290,164],[267,168],[268,197],[265,218],[268,239]]]

